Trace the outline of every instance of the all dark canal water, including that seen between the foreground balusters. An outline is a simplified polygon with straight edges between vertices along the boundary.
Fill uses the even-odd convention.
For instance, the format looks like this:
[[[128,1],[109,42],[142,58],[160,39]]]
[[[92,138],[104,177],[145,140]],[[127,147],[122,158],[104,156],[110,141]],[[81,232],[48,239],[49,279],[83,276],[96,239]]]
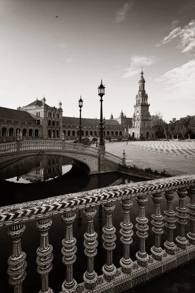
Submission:
[[[78,191],[102,188],[119,184],[128,184],[144,181],[123,175],[117,172],[99,175],[87,175],[78,167],[74,166],[69,158],[60,156],[34,156],[12,162],[6,167],[0,167],[1,201],[0,206],[22,203],[37,199],[43,199],[61,194]],[[138,251],[138,238],[136,235],[136,217],[138,206],[135,198],[132,199],[131,221],[134,225],[133,243],[131,244],[131,258],[135,260]],[[189,197],[186,197],[186,205]],[[119,260],[123,255],[123,245],[120,242],[120,222],[123,211],[120,202],[116,202],[116,209],[113,213],[113,224],[116,227],[116,249],[113,252],[113,262],[119,267]],[[178,197],[174,199],[174,210],[178,205]],[[164,214],[166,200],[163,199],[161,212]],[[148,197],[146,204],[146,216],[149,219],[149,237],[146,239],[146,251],[150,254],[150,248],[154,245],[154,235],[151,232],[151,214],[154,212],[154,204],[151,197]],[[84,255],[83,235],[86,232],[86,219],[83,211],[76,211],[77,218],[74,222],[74,236],[77,238],[77,260],[74,264],[74,278],[82,282],[82,275],[87,268],[87,259]],[[64,238],[65,226],[61,216],[52,217],[53,224],[49,230],[49,242],[53,246],[53,270],[49,274],[49,284],[54,293],[61,291],[65,275],[65,267],[61,261],[61,241]],[[95,257],[95,270],[100,275],[101,268],[105,263],[105,251],[102,247],[102,228],[105,225],[105,214],[102,207],[97,207],[97,214],[94,220],[94,227],[98,233],[98,254]],[[26,230],[22,236],[22,249],[26,252],[27,278],[23,282],[23,292],[36,293],[40,290],[40,276],[37,273],[36,250],[39,247],[40,234],[36,228],[36,221],[25,223]],[[7,259],[11,254],[11,239],[7,235],[8,228],[0,228],[0,288],[2,292],[11,293],[13,288],[8,283]],[[165,230],[165,229],[164,229]],[[186,232],[189,225],[186,227]],[[175,230],[175,237],[178,234],[178,227]],[[166,230],[162,235],[161,245],[167,239]],[[177,292],[177,291],[176,291]]]

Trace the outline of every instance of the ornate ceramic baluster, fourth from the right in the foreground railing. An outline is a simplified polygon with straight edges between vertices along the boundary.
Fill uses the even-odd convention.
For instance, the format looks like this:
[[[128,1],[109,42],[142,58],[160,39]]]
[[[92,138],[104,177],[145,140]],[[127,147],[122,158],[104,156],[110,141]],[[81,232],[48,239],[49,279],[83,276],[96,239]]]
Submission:
[[[160,202],[162,200],[162,193],[157,192],[151,195],[153,202],[155,204],[155,212],[152,214],[152,221],[151,224],[154,226],[152,227],[152,231],[155,233],[155,245],[151,248],[152,256],[156,260],[162,259],[163,250],[160,247],[160,238],[161,234],[163,234],[162,227],[164,223],[162,222],[163,216],[160,213]]]

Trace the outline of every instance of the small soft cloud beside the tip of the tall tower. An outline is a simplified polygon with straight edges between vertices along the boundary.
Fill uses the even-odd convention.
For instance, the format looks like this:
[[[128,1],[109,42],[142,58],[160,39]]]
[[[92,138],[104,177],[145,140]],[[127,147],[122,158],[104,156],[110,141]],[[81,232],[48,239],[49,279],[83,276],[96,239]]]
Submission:
[[[140,72],[141,66],[150,66],[156,61],[156,57],[132,56],[129,68],[122,75],[123,78],[129,78]]]

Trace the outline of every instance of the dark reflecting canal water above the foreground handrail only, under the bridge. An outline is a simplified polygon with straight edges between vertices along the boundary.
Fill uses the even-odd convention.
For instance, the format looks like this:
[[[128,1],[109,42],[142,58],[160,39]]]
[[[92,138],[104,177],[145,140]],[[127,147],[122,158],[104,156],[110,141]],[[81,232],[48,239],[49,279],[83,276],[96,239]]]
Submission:
[[[0,206],[44,199],[62,194],[142,181],[117,172],[88,175],[70,158],[38,155],[0,167],[0,184],[6,197]],[[79,220],[80,221],[80,220]]]

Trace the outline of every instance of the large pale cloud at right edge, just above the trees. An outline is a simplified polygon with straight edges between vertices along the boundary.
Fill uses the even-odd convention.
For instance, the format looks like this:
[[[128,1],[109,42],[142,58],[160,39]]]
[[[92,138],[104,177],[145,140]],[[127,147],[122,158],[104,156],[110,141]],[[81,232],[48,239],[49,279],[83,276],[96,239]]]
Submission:
[[[161,75],[163,99],[195,99],[195,59]]]

